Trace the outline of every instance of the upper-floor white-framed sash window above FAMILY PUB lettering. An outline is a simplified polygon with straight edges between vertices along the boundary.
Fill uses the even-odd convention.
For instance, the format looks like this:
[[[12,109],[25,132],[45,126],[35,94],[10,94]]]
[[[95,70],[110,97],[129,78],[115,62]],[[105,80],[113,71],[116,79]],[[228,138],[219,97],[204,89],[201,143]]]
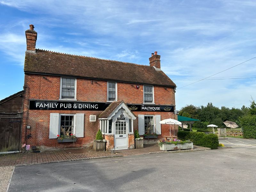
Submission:
[[[60,78],[60,99],[76,100],[76,78]]]

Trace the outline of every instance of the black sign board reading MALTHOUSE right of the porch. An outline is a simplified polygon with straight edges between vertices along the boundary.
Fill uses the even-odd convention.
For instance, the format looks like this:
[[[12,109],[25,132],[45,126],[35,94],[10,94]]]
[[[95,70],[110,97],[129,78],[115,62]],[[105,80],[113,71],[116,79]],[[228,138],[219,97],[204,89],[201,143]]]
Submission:
[[[161,112],[173,112],[174,106],[172,105],[137,105],[127,104],[131,111],[161,111]]]

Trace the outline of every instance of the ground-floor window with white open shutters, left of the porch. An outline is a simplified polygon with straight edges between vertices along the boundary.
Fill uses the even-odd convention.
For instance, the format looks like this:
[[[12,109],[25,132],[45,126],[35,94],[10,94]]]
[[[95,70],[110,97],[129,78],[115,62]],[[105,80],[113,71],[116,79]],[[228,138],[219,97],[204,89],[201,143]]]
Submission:
[[[57,135],[71,134],[84,137],[84,113],[50,113],[49,139],[56,139]]]

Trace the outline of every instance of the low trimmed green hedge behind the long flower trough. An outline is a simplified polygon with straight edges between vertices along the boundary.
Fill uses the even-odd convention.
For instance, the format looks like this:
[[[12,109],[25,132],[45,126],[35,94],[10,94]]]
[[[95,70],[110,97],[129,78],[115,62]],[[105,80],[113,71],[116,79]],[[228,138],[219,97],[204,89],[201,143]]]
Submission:
[[[211,149],[217,149],[219,146],[218,136],[213,133],[179,131],[178,139],[190,140],[194,145]]]

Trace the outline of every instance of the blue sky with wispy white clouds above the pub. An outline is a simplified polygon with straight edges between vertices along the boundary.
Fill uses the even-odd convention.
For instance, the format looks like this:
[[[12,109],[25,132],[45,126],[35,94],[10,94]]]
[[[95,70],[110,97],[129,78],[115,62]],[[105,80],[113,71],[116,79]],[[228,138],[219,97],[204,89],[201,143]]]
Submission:
[[[0,0],[0,100],[23,89],[25,30],[34,24],[39,49],[142,65],[157,51],[177,85],[177,109],[249,106],[256,59],[183,86],[256,56],[255,10],[253,0]]]

